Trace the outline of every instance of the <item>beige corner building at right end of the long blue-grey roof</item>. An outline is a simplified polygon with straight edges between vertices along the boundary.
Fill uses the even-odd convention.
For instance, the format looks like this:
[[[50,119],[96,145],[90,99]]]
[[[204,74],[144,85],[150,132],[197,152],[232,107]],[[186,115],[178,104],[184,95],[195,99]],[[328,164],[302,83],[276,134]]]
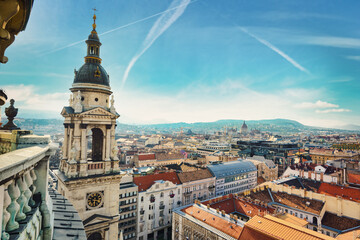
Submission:
[[[278,178],[278,167],[272,160],[265,159],[263,156],[248,157],[246,160],[252,162],[257,170],[257,177],[262,177],[265,181],[272,181]]]

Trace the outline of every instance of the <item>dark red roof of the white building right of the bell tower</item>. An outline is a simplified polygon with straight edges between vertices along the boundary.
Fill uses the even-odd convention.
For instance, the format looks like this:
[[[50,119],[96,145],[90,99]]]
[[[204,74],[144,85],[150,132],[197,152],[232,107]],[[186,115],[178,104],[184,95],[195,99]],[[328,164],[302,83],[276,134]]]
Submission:
[[[155,181],[158,180],[170,181],[176,185],[181,184],[175,172],[166,172],[134,177],[134,183],[139,187],[139,192],[146,191],[154,184]]]

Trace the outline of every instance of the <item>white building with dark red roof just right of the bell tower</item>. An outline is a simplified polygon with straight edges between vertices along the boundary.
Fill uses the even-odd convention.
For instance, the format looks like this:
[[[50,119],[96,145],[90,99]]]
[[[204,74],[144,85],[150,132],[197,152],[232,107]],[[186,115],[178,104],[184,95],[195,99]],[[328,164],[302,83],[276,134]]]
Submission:
[[[175,172],[135,177],[138,194],[138,240],[171,239],[172,210],[181,205],[181,182]]]

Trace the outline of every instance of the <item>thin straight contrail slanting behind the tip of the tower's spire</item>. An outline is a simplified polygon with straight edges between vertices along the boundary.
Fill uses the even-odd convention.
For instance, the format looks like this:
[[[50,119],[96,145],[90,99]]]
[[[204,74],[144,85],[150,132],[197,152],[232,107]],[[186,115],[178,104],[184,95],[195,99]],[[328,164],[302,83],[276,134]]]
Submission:
[[[120,30],[120,29],[123,29],[123,28],[130,27],[130,26],[132,26],[132,25],[134,25],[134,24],[137,24],[137,23],[140,23],[140,22],[144,22],[144,21],[146,21],[146,20],[148,20],[148,19],[154,18],[154,17],[156,17],[156,16],[162,15],[162,14],[164,14],[164,13],[170,12],[170,11],[175,10],[175,9],[178,9],[178,8],[182,8],[182,7],[185,7],[185,8],[186,8],[187,5],[189,5],[190,3],[194,3],[194,2],[196,2],[196,1],[198,1],[198,0],[189,1],[189,2],[188,2],[188,1],[183,1],[184,3],[182,3],[182,4],[178,5],[178,6],[175,6],[175,7],[171,7],[171,6],[173,5],[173,4],[171,4],[170,8],[166,9],[165,11],[155,13],[155,14],[153,14],[153,15],[151,15],[151,16],[148,16],[148,17],[145,17],[145,18],[136,20],[136,21],[131,22],[131,23],[127,23],[127,24],[122,25],[122,26],[117,27],[117,28],[113,28],[113,29],[111,29],[111,30],[108,30],[108,31],[106,31],[106,32],[103,32],[103,33],[99,34],[99,36],[103,36],[103,35],[112,33],[112,32],[114,32],[114,31],[117,31],[117,30]],[[54,52],[63,50],[63,49],[65,49],[65,48],[69,48],[69,47],[78,45],[78,44],[80,44],[80,43],[83,43],[83,42],[86,41],[86,40],[87,40],[87,39],[83,39],[83,40],[80,40],[80,41],[77,41],[77,42],[70,43],[70,44],[68,44],[68,45],[66,45],[66,46],[64,46],[64,47],[56,48],[56,49],[50,50],[50,51],[48,51],[48,52],[42,53],[42,54],[40,54],[40,56],[44,56],[44,55],[47,55],[47,54],[50,54],[50,53],[54,53]]]

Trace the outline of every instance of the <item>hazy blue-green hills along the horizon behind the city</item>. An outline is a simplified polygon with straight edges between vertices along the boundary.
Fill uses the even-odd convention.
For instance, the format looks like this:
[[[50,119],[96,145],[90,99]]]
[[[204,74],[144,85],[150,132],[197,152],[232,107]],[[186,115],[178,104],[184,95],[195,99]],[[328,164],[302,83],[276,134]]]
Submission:
[[[6,122],[6,121],[3,121]],[[194,133],[214,133],[222,131],[224,127],[237,128],[240,130],[244,120],[225,119],[215,122],[195,122],[195,123],[163,123],[163,124],[142,124],[131,125],[118,122],[116,131],[118,133],[173,133],[191,129]],[[297,121],[289,119],[266,119],[266,120],[246,120],[248,128],[260,131],[271,132],[274,134],[294,134],[299,132],[338,132],[344,130],[326,129],[303,125]],[[61,119],[16,119],[15,123],[22,129],[33,130],[36,134],[56,134],[64,131],[63,120]],[[360,126],[352,126],[348,130],[360,131]]]

